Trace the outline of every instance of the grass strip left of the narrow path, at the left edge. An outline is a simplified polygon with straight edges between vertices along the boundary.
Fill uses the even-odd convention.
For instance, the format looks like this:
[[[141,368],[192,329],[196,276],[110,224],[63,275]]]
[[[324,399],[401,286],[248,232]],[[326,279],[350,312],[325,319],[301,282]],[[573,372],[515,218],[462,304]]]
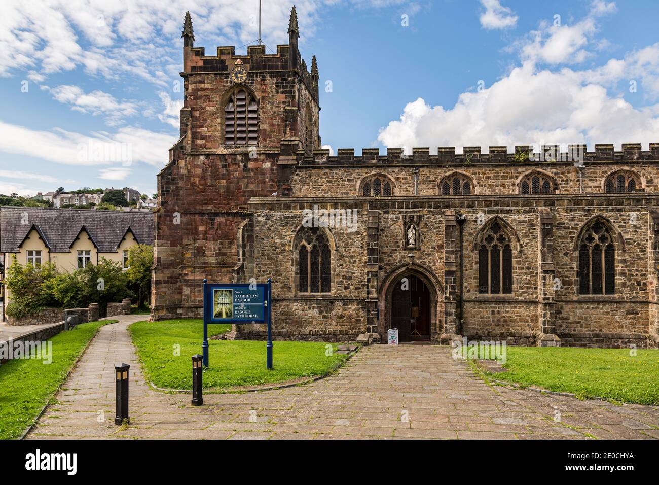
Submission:
[[[51,339],[50,364],[37,359],[14,359],[0,366],[0,439],[20,437],[55,395],[98,329],[116,321],[82,323],[71,331],[58,333]]]

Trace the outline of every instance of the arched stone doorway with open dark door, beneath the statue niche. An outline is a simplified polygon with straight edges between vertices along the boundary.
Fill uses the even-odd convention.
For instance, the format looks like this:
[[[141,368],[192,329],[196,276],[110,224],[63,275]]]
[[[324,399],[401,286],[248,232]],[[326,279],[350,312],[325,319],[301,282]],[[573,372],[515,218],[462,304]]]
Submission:
[[[398,329],[401,342],[439,342],[444,321],[442,286],[418,265],[405,265],[389,273],[380,288],[378,331]]]

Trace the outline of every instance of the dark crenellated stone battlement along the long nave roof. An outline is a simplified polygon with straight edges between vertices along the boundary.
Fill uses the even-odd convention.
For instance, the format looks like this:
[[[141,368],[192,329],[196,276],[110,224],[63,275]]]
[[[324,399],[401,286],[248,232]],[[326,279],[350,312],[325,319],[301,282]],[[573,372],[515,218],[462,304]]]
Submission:
[[[326,165],[378,165],[378,164],[552,164],[569,162],[577,164],[596,161],[659,161],[659,143],[650,143],[643,150],[641,143],[623,143],[622,150],[614,150],[613,143],[594,145],[588,151],[583,144],[567,145],[561,151],[559,145],[542,145],[539,152],[530,145],[517,145],[515,152],[508,152],[506,146],[490,146],[483,153],[480,146],[464,146],[463,153],[455,153],[455,146],[440,146],[437,154],[430,154],[430,148],[412,148],[412,154],[405,154],[403,148],[387,148],[387,154],[380,154],[379,148],[363,148],[361,156],[355,156],[354,148],[339,148],[336,156],[329,156],[329,150],[316,149],[313,156],[306,156],[303,150],[297,152],[300,166]]]

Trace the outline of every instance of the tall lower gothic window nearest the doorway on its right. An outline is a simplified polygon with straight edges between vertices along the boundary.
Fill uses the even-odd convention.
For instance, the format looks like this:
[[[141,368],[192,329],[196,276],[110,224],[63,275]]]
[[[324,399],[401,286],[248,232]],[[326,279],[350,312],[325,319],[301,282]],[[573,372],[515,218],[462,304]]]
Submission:
[[[478,238],[478,293],[513,292],[513,242],[498,220],[482,230]]]

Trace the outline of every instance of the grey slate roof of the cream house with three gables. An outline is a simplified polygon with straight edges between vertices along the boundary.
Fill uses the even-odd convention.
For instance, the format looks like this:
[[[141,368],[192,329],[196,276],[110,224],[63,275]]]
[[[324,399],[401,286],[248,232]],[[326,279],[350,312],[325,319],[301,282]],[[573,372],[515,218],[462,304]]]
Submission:
[[[153,212],[0,207],[0,252],[18,252],[33,226],[55,252],[69,252],[83,226],[101,253],[116,251],[129,228],[138,242],[154,243]]]

